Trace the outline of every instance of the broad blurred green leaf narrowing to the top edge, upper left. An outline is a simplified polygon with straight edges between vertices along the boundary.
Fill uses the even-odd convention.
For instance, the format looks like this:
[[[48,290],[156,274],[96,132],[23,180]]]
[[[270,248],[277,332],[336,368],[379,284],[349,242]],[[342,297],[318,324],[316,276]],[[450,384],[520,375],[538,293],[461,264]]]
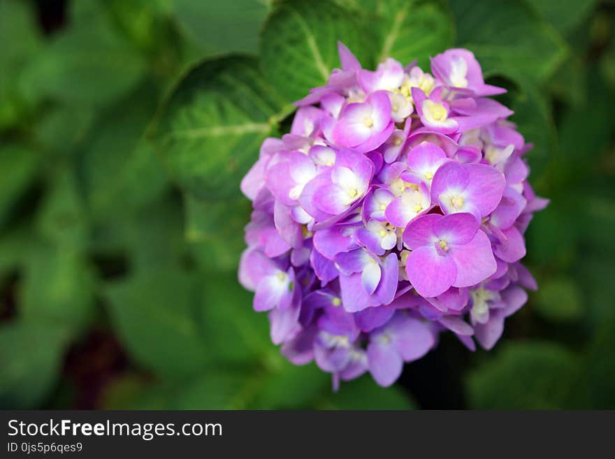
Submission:
[[[24,92],[83,105],[103,105],[126,94],[144,75],[143,57],[99,2],[75,2],[71,13],[70,25],[24,70]]]

